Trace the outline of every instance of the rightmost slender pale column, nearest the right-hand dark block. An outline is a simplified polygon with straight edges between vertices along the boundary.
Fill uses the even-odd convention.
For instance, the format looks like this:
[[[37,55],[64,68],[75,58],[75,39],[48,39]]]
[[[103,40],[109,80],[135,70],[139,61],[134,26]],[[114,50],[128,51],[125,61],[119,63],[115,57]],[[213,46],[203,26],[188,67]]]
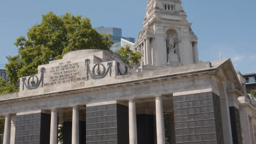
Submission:
[[[165,124],[164,111],[162,107],[162,96],[155,97],[155,113],[156,113],[156,139],[158,144],[165,144]]]

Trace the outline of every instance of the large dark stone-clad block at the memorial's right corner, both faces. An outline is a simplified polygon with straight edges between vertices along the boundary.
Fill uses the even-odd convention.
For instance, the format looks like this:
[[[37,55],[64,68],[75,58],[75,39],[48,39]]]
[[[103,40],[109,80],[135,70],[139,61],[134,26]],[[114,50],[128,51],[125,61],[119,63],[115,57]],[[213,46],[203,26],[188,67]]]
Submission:
[[[173,102],[176,143],[223,143],[218,95],[179,95]]]

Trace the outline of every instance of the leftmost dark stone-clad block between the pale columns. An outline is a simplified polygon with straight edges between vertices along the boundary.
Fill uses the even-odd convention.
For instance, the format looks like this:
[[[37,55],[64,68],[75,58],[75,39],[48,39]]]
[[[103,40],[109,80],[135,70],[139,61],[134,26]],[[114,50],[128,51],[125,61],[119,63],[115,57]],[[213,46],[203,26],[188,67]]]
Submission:
[[[15,144],[48,144],[50,142],[50,118],[47,113],[17,116]]]

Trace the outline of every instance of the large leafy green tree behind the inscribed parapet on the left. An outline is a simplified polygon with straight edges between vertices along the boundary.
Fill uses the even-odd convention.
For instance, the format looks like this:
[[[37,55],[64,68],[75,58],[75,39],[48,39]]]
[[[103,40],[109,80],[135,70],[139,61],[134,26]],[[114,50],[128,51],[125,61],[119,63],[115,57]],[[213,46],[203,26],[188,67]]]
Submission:
[[[7,74],[10,83],[20,77],[36,74],[38,65],[62,58],[67,52],[84,49],[109,50],[114,42],[109,34],[92,28],[90,19],[66,13],[42,15],[42,22],[28,29],[27,37],[19,37],[17,56],[8,56]]]

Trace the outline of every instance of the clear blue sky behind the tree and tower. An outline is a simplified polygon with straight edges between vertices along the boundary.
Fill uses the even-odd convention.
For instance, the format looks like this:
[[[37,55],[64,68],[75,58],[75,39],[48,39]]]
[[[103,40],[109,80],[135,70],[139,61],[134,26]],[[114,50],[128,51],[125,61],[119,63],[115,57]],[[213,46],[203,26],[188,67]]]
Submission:
[[[201,61],[217,61],[221,52],[242,74],[256,73],[255,0],[182,0],[182,5],[199,38]],[[92,27],[118,27],[124,37],[137,38],[146,6],[147,0],[0,0],[0,64],[18,54],[16,39],[49,11],[82,15]]]

